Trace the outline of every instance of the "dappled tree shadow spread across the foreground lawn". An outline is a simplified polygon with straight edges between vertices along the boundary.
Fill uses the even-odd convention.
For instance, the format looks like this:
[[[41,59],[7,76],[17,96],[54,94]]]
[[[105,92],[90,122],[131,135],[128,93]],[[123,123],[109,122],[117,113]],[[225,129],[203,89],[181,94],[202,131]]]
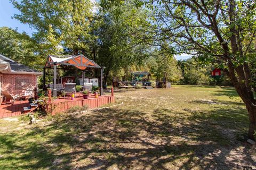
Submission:
[[[239,169],[242,165],[226,161],[237,145],[212,122],[217,113],[203,116],[191,112],[185,117],[170,109],[156,109],[149,117],[139,111],[106,108],[87,115],[62,115],[25,134],[1,134],[0,146],[6,148],[3,154],[17,152],[16,156],[1,159],[13,162],[6,169]],[[232,116],[228,118],[236,121]],[[26,142],[35,137],[39,141]],[[65,147],[71,149],[63,150]],[[247,162],[242,164],[255,164],[246,148],[243,154]]]

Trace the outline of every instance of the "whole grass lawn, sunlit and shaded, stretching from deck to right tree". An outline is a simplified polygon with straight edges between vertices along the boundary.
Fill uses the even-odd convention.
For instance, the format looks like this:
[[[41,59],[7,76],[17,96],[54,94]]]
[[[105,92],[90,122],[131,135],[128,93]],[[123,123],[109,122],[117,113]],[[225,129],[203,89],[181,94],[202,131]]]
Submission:
[[[256,168],[256,148],[243,139],[247,112],[233,88],[115,96],[114,106],[33,125],[25,117],[0,120],[0,169]]]

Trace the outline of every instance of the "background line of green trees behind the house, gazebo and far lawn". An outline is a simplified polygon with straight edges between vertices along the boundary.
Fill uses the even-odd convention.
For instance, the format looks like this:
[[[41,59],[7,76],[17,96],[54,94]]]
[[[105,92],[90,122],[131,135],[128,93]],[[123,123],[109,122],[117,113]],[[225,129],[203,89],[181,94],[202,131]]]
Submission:
[[[84,54],[106,68],[105,85],[111,84],[113,78],[130,80],[130,71],[138,70],[151,72],[152,81],[220,84],[211,81],[210,67],[205,71],[198,69],[200,66],[193,66],[196,62],[180,64],[190,60],[178,63],[173,57],[175,49],[165,41],[154,40],[152,32],[156,28],[151,23],[154,18],[149,18],[151,10],[138,7],[132,1],[107,7],[104,1],[92,3],[89,0],[11,2],[21,12],[14,18],[35,30],[29,37],[26,32],[0,29],[1,54],[17,62],[42,70],[49,54]],[[51,70],[47,73],[46,82],[51,82]],[[80,74],[58,71],[58,77]],[[94,76],[99,72],[89,70],[86,74]]]

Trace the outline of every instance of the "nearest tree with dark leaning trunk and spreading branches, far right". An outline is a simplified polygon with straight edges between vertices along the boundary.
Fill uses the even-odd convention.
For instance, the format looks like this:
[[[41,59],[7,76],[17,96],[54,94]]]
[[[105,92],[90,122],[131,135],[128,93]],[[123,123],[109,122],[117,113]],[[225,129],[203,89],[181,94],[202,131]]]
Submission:
[[[178,53],[196,54],[198,61],[222,68],[249,113],[249,138],[256,130],[256,21],[253,1],[153,1],[155,39],[169,42]],[[254,90],[253,90],[254,89]]]

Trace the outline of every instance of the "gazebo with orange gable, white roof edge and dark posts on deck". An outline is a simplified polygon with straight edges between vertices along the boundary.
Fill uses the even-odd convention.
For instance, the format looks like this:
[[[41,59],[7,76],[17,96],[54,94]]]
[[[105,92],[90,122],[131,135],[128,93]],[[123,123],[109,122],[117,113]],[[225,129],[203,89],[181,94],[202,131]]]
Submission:
[[[62,66],[62,67],[58,67]],[[57,89],[56,89],[56,82],[57,82],[57,69],[67,70],[65,66],[74,66],[77,69],[72,70],[80,70],[83,72],[83,84],[84,84],[84,71],[87,67],[91,67],[94,69],[101,69],[100,74],[100,95],[103,95],[103,88],[102,88],[102,74],[103,74],[103,67],[99,66],[94,61],[90,60],[89,58],[85,57],[84,55],[66,55],[66,56],[55,56],[55,55],[48,55],[47,61],[45,63],[43,69],[43,86],[45,87],[45,69],[53,69],[53,96],[57,96]]]

